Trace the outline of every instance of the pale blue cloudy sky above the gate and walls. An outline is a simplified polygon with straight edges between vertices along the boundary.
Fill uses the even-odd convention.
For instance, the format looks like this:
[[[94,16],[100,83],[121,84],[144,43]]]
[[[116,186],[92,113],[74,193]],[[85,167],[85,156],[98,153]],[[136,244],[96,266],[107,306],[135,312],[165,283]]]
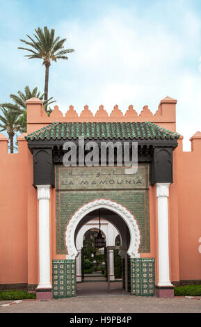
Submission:
[[[155,113],[168,95],[191,150],[189,138],[201,131],[200,0],[0,0],[0,15],[0,102],[26,85],[43,93],[42,61],[17,47],[47,26],[75,50],[49,70],[49,97],[63,113],[86,104],[93,113],[100,104],[108,113],[115,104]]]

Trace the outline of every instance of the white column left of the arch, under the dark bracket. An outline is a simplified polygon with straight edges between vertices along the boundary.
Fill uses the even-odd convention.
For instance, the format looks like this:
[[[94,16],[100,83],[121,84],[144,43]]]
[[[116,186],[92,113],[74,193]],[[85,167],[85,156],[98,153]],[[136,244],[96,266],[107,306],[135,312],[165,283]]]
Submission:
[[[39,200],[39,285],[38,289],[51,288],[49,245],[50,185],[37,185]]]

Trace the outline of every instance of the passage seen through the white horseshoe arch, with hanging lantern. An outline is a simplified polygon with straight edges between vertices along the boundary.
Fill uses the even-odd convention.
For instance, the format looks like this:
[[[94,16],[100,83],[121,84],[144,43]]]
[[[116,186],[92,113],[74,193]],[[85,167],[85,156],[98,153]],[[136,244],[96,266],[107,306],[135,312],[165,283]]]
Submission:
[[[75,232],[77,296],[122,295],[130,290],[125,287],[129,241],[129,229],[118,214],[102,208],[83,217]]]

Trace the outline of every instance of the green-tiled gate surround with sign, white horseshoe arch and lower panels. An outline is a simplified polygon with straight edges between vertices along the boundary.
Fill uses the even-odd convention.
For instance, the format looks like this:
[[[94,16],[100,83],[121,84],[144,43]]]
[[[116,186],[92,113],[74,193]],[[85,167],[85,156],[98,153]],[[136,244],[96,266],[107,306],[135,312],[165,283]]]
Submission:
[[[113,189],[109,183],[100,184],[101,179],[109,181],[111,176],[114,181],[121,181],[113,183],[115,185]],[[143,163],[139,164],[135,175],[125,175],[124,168],[120,167],[66,168],[61,165],[56,166],[56,207],[61,208],[56,216],[57,232],[60,235],[58,237],[60,242],[57,246],[58,253],[65,253],[66,259],[53,262],[54,297],[76,295],[75,264],[76,257],[79,255],[76,247],[77,234],[85,223],[98,217],[99,209],[102,212],[101,217],[112,223],[119,231],[122,250],[127,249],[126,255],[123,251],[125,291],[129,289],[131,294],[135,295],[155,294],[154,259],[140,259],[140,251],[150,250],[148,180],[149,167]],[[92,186],[94,181],[97,185],[96,189]],[[87,203],[88,200],[90,202]],[[81,205],[79,209],[77,209],[78,205]],[[138,216],[138,222],[133,212]],[[143,231],[141,234],[140,230]],[[64,237],[62,237],[63,234]],[[127,255],[131,269],[130,285],[128,285]]]

